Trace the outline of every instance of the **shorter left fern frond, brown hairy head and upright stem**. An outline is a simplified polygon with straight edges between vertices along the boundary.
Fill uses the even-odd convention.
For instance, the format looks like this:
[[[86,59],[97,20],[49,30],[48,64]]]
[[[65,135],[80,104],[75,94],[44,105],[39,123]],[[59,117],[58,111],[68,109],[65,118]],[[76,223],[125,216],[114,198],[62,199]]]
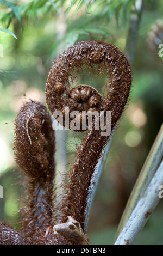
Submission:
[[[46,107],[36,101],[25,103],[15,120],[14,154],[18,167],[26,175],[29,196],[22,209],[22,224],[27,235],[52,222],[54,143]]]

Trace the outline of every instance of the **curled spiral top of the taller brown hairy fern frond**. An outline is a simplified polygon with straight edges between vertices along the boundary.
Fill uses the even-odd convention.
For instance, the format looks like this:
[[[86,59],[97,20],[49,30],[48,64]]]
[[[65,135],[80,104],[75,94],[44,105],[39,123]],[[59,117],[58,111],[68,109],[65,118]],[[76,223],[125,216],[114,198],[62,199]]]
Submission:
[[[71,82],[86,65],[104,74],[110,84],[106,86],[107,95],[102,95],[87,85],[71,87]],[[53,114],[61,111],[81,112],[111,111],[111,128],[121,117],[131,87],[131,68],[126,56],[112,44],[103,41],[82,41],[65,50],[54,60],[46,83],[46,101]],[[71,119],[70,119],[71,120]]]

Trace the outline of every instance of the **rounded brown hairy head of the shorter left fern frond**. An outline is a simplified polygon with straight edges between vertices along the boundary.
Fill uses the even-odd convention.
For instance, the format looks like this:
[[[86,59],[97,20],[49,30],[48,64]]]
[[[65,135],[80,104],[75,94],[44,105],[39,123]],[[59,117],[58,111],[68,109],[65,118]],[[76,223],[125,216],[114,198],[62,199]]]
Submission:
[[[29,101],[15,120],[15,160],[33,182],[54,174],[54,130],[46,107]],[[27,161],[28,160],[28,161]]]

